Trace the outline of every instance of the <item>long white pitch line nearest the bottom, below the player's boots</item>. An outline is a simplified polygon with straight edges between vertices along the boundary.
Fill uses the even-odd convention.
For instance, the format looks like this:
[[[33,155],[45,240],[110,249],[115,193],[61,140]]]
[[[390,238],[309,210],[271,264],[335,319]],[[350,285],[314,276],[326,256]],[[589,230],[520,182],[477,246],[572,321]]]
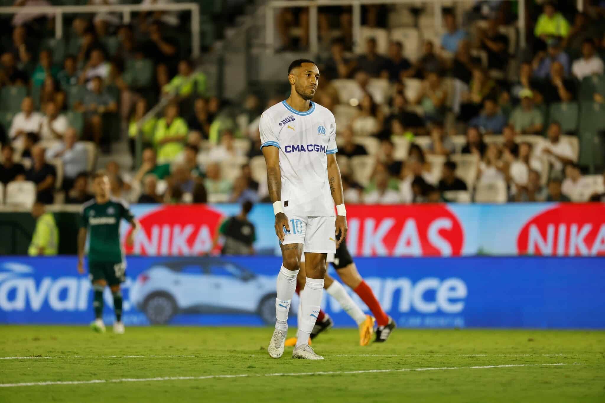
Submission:
[[[384,372],[414,372],[414,371],[443,371],[457,369],[491,369],[491,368],[512,368],[512,367],[538,367],[538,366],[566,366],[566,365],[584,365],[582,363],[557,363],[557,364],[505,364],[473,367],[428,367],[428,368],[402,368],[402,369],[368,369],[359,371],[318,371],[318,372],[293,372],[293,373],[265,373],[265,374],[247,374],[238,375],[206,375],[206,376],[161,376],[157,378],[120,378],[120,379],[91,379],[90,381],[46,381],[46,382],[20,382],[16,384],[0,384],[0,387],[21,387],[21,386],[49,386],[49,385],[85,385],[85,384],[103,384],[103,383],[121,383],[121,382],[157,382],[157,381],[191,381],[200,379],[218,379],[218,378],[252,378],[261,376],[310,376],[310,375],[352,375],[357,373],[384,373]]]

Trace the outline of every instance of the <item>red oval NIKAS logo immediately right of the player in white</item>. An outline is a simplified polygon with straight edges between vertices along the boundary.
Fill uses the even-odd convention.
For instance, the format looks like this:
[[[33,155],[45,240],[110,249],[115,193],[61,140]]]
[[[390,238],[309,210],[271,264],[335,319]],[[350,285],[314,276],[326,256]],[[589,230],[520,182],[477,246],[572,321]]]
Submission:
[[[460,256],[464,231],[444,204],[347,206],[354,256]]]

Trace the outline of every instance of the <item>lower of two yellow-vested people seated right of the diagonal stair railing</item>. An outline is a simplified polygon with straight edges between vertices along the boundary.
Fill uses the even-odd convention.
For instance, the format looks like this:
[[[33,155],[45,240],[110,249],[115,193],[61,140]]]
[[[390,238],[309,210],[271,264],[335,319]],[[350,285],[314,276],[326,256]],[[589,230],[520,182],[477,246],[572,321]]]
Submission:
[[[164,110],[164,117],[155,125],[154,143],[157,160],[166,163],[183,151],[189,131],[185,119],[178,116],[178,105],[171,103]]]

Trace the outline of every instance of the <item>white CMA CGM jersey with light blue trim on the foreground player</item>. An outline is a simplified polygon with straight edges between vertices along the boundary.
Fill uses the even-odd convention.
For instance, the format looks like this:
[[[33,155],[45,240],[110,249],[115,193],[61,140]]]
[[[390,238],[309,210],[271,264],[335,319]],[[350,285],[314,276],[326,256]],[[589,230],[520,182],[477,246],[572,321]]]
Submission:
[[[263,112],[260,132],[261,149],[280,149],[281,202],[286,215],[334,216],[326,156],[338,151],[332,112],[315,102],[309,111],[299,112],[283,101]]]

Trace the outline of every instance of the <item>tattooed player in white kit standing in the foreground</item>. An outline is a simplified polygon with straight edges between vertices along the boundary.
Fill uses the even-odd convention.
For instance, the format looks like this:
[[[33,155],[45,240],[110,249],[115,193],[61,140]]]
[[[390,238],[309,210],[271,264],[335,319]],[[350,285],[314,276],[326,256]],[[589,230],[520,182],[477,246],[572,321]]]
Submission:
[[[277,276],[275,331],[267,350],[273,358],[284,353],[288,312],[304,252],[307,278],[292,357],[324,359],[309,346],[309,335],[321,305],[326,255],[336,251],[336,234],[340,234],[338,243],[347,234],[335,156],[336,121],[332,112],[311,102],[319,83],[319,69],[312,60],[293,61],[288,68],[288,81],[290,97],[264,111],[260,120],[275,233],[283,257]]]

